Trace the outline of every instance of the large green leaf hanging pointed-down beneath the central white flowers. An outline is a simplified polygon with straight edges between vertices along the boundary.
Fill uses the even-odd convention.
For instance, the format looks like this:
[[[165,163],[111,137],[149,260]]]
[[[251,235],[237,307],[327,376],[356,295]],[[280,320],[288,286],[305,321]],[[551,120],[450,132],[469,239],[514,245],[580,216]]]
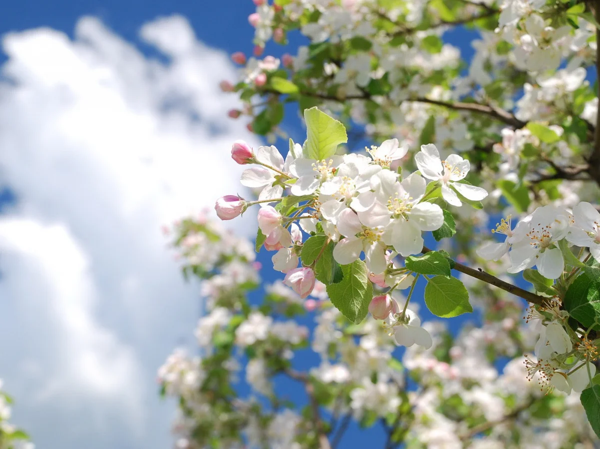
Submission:
[[[328,285],[327,294],[344,317],[358,324],[367,316],[369,303],[373,299],[369,270],[362,260],[342,265],[341,270],[344,278],[337,284]]]

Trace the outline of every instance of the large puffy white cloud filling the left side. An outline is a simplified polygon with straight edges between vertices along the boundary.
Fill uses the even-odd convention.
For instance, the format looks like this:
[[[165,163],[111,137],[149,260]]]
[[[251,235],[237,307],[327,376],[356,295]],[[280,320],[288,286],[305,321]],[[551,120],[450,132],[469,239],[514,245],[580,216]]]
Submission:
[[[258,142],[226,118],[227,55],[182,17],[142,28],[154,59],[96,19],[75,36],[3,41],[0,377],[42,449],[170,447],[155,372],[199,304],[160,225],[241,191],[230,144]]]

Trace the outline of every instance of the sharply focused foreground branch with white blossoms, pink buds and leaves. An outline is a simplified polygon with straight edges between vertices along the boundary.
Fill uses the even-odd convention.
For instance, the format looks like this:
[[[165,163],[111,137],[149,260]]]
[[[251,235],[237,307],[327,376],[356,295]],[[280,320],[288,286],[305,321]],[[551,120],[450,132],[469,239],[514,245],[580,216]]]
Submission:
[[[529,376],[540,373],[549,390],[584,390],[582,403],[593,414],[598,393],[593,362],[600,347],[595,330],[600,323],[600,213],[595,207],[587,202],[572,212],[538,207],[514,228],[510,218],[502,219],[492,232],[505,235],[505,241],[478,249],[491,260],[508,254],[507,272],[524,272],[535,288],[531,293],[424,246],[425,231],[437,241],[454,236],[450,207],[466,203],[481,209],[480,201],[488,196],[467,182],[469,161],[455,154],[442,160],[436,146],[424,144],[415,155],[418,171],[392,171],[391,165],[408,152],[398,140],[372,146],[367,155],[339,156],[338,145],[347,141],[343,124],[317,108],[305,111],[305,122],[307,140],[302,146],[290,140],[286,159],[275,146],[254,153],[236,142],[232,158],[254,165],[242,173],[242,185],[260,189],[259,200],[223,197],[215,205],[218,216],[232,219],[260,204],[257,248],[277,251],[273,267],[286,273],[284,284],[304,299],[318,279],[350,322],[360,324],[370,312],[383,320],[397,343],[425,349],[433,345],[431,335],[408,308],[419,278],[427,282],[425,305],[440,318],[473,311],[469,293],[452,269],[502,288],[533,303],[530,318],[544,326],[536,357],[527,358]],[[310,236],[304,242],[302,231]],[[573,245],[580,248],[577,255]],[[401,307],[392,294],[409,287]],[[377,288],[382,294],[373,293]],[[595,426],[593,418],[590,423]]]

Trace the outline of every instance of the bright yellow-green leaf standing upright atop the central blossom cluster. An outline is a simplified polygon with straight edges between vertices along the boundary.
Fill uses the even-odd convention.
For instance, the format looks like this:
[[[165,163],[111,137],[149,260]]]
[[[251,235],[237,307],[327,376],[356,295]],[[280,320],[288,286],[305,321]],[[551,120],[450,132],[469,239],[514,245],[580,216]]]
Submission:
[[[344,125],[316,107],[304,111],[304,120],[307,127],[305,158],[317,161],[329,158],[335,154],[338,144],[348,141]]]

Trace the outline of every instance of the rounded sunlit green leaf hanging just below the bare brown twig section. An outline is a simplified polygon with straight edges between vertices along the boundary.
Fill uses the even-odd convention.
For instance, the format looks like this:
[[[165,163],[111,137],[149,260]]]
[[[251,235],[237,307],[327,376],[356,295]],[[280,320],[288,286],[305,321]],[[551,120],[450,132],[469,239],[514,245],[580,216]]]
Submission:
[[[446,276],[427,279],[425,304],[432,314],[441,318],[457,317],[466,312],[473,312],[469,303],[469,292],[463,283],[456,278],[446,278]]]

